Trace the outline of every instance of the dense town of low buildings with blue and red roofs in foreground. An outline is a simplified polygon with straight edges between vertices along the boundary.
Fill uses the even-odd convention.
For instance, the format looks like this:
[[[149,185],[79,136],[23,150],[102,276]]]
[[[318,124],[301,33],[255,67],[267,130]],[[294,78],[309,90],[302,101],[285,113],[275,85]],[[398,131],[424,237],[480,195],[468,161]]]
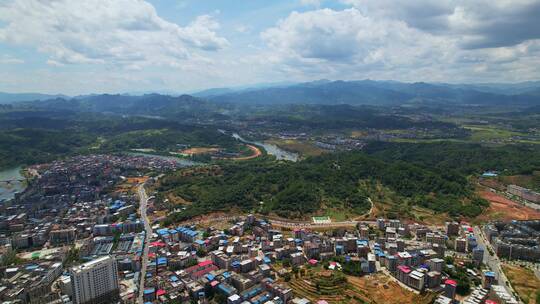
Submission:
[[[146,188],[182,166],[88,155],[30,167],[27,189],[2,205],[0,299],[519,303],[501,261],[538,267],[538,220],[432,226],[233,215],[163,226]]]

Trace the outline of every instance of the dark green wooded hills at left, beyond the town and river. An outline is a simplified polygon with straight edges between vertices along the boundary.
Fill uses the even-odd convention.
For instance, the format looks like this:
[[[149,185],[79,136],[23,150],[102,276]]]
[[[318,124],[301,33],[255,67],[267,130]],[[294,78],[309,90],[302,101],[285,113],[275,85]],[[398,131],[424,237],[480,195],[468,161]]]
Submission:
[[[161,119],[69,111],[0,113],[0,168],[47,162],[73,154],[136,148],[173,151],[184,145],[241,149],[234,139],[213,127]]]

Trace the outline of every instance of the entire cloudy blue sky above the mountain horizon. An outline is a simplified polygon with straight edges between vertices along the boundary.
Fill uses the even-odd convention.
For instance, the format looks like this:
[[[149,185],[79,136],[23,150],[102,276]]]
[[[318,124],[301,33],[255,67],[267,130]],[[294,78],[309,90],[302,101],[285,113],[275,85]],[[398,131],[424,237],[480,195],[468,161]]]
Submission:
[[[540,79],[539,0],[0,0],[0,91]]]

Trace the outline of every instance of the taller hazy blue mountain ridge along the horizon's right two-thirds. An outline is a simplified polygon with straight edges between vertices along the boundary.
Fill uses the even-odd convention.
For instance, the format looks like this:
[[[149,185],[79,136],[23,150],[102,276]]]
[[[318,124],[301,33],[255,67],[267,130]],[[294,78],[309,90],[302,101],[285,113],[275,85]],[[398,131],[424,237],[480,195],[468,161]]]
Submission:
[[[452,85],[395,81],[321,80],[246,90],[207,90],[206,99],[244,104],[540,104],[540,82]]]

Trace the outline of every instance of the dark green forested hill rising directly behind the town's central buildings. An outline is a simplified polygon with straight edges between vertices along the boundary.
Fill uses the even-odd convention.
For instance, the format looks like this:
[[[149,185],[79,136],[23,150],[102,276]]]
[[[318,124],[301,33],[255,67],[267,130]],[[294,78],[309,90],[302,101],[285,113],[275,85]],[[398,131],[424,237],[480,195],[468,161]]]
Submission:
[[[400,198],[395,204],[422,206],[451,216],[476,216],[485,206],[474,197],[467,178],[453,170],[381,161],[361,152],[297,163],[224,163],[214,170],[212,174],[178,172],[161,181],[163,197],[179,196],[192,203],[174,213],[171,221],[233,207],[286,217],[305,217],[320,209],[362,214],[370,208],[366,198],[378,195],[378,185]]]

